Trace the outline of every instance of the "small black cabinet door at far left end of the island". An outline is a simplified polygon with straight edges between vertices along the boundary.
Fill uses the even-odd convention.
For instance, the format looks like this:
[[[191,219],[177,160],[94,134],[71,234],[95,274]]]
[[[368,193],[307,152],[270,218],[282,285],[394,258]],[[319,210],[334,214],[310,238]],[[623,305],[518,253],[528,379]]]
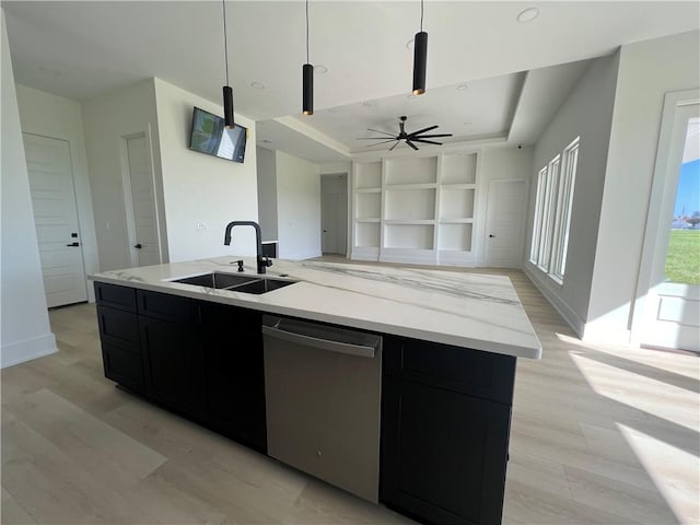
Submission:
[[[143,364],[136,314],[100,305],[97,323],[105,377],[142,394]]]

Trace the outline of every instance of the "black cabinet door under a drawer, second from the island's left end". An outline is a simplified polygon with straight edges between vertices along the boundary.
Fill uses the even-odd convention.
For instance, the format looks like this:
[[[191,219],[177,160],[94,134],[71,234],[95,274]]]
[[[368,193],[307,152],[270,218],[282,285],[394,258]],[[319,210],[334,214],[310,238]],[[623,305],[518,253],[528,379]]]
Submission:
[[[172,410],[201,412],[201,343],[188,324],[140,316],[147,394]]]

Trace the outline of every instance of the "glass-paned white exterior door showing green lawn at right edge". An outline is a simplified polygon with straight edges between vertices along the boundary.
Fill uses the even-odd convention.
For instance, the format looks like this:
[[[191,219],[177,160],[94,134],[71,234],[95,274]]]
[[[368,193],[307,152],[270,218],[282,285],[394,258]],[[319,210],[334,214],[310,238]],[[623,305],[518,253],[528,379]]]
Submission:
[[[661,213],[640,342],[700,352],[700,102],[665,109],[664,125],[655,174]]]

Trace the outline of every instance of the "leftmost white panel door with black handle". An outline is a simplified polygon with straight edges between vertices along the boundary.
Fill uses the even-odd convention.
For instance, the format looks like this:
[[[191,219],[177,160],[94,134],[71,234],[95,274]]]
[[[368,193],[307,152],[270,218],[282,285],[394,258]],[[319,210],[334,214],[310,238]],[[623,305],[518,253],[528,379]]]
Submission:
[[[70,144],[23,133],[49,307],[88,301]]]

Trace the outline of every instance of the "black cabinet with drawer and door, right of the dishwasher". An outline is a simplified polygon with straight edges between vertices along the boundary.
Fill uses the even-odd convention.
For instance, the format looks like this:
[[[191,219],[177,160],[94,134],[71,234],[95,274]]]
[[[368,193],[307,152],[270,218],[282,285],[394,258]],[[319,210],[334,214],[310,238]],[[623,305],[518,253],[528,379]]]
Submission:
[[[385,338],[382,489],[441,525],[499,524],[515,358]]]

